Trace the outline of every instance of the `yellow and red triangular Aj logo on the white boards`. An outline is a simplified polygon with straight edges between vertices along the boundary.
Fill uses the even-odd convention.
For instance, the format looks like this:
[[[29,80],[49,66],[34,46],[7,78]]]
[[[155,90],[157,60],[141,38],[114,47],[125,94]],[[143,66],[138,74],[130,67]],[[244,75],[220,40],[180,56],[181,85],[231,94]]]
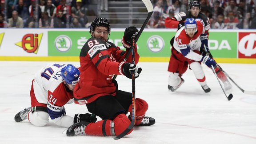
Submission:
[[[26,34],[23,36],[22,41],[17,42],[15,45],[24,49],[24,51],[28,53],[34,52],[35,54],[38,52],[38,48],[40,42],[42,40],[43,33],[40,34]]]

